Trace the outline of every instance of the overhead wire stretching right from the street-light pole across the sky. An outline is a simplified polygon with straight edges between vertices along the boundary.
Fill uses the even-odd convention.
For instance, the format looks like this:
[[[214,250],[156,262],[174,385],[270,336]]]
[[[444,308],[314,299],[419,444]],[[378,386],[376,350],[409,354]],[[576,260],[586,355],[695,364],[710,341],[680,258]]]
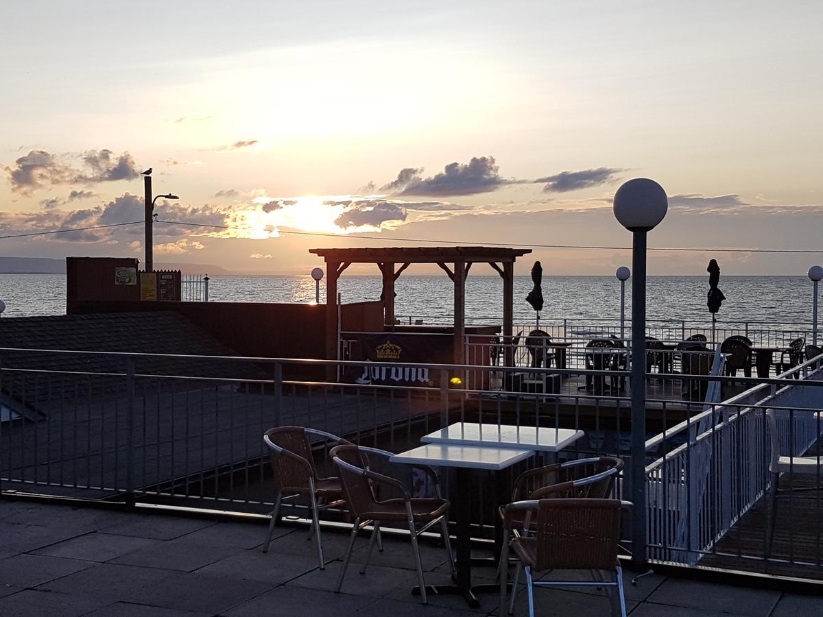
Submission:
[[[188,223],[182,220],[156,220],[156,223],[165,223],[166,225],[188,225],[190,227],[207,227],[217,230],[239,230],[251,231],[245,227],[232,227],[231,225],[205,225],[202,223]],[[348,236],[342,234],[328,234],[321,231],[286,231],[277,230],[278,234],[293,234],[293,235],[310,235],[321,236],[325,238],[347,238]],[[580,248],[580,249],[597,249],[608,251],[630,251],[628,246],[598,246],[594,244],[518,244],[514,242],[500,243],[500,242],[463,242],[461,240],[432,240],[422,238],[393,238],[390,236],[368,236],[357,234],[353,236],[354,239],[362,240],[378,240],[385,242],[390,240],[392,242],[414,242],[429,243],[429,244],[463,244],[476,246],[495,246],[495,247],[523,247],[523,248]],[[693,248],[693,247],[649,247],[649,251],[678,251],[691,253],[823,253],[823,249],[802,249],[802,248]]]

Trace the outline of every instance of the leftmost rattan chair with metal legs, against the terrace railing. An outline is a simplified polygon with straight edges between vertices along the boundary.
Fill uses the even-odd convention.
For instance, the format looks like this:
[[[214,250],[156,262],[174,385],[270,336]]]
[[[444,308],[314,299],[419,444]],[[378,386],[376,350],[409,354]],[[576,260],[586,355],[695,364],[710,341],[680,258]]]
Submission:
[[[332,508],[342,503],[342,486],[336,477],[321,478],[314,464],[309,436],[323,438],[333,443],[349,443],[346,439],[322,430],[305,429],[300,426],[281,426],[269,429],[263,435],[263,443],[269,449],[268,462],[272,466],[275,485],[274,510],[269,522],[263,553],[272,541],[272,531],[280,518],[280,506],[284,495],[308,497],[311,503],[312,527],[309,540],[317,534],[317,552],[320,569],[326,568],[323,560],[323,540],[320,537],[320,510]]]

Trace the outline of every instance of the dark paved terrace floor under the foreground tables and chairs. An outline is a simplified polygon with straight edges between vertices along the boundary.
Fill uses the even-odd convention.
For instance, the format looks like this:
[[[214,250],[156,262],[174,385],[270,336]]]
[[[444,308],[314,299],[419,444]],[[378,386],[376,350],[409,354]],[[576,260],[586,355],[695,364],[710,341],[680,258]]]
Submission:
[[[387,537],[363,576],[361,539],[343,593],[335,594],[346,534],[324,534],[328,565],[321,571],[305,528],[278,528],[263,554],[265,531],[260,522],[0,499],[0,615],[497,615],[497,596],[483,596],[475,611],[453,596],[421,605],[410,593],[416,573],[407,540]],[[422,554],[427,582],[446,582],[444,550],[423,545]],[[491,569],[476,573],[493,577]],[[658,575],[627,584],[626,595],[637,617],[823,613],[820,597]],[[536,601],[538,615],[611,614],[594,590],[542,589]],[[515,614],[527,614],[524,595]]]

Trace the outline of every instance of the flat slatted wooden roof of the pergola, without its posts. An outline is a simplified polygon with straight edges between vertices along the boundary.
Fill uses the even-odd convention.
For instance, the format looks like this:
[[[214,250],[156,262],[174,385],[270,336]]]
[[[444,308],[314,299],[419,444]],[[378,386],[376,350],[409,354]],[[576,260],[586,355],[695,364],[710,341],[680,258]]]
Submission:
[[[309,248],[309,253],[327,262],[350,263],[514,262],[531,252],[531,248],[485,246]]]

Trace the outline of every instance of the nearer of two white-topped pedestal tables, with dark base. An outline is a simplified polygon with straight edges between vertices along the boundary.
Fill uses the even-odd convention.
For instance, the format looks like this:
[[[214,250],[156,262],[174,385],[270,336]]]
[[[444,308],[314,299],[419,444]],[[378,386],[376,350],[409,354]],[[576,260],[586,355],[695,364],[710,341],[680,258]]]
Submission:
[[[389,460],[398,463],[417,463],[433,467],[454,467],[457,483],[457,499],[454,503],[457,520],[457,579],[455,585],[426,586],[426,592],[437,594],[457,594],[463,596],[472,608],[480,606],[475,592],[500,591],[499,585],[479,585],[472,587],[472,470],[485,469],[500,471],[514,463],[534,455],[533,449],[496,448],[473,446],[460,443],[427,443],[407,452],[395,454]],[[487,589],[486,587],[493,587]],[[415,587],[413,593],[420,593]]]

